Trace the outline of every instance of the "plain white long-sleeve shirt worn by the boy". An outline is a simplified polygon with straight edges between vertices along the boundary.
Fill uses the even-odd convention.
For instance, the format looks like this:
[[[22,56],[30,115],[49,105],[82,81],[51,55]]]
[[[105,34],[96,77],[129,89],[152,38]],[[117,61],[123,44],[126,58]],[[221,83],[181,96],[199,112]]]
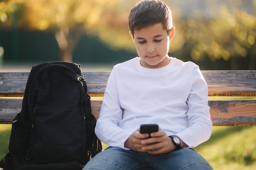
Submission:
[[[114,66],[95,133],[108,146],[124,142],[141,124],[158,124],[189,147],[209,139],[212,130],[207,83],[197,65],[171,58],[162,68],[145,68],[139,57]]]

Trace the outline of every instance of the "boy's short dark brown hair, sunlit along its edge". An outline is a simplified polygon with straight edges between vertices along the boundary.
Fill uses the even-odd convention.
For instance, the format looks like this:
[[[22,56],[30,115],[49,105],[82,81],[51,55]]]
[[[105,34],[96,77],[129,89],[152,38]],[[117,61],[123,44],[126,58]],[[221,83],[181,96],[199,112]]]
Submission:
[[[146,26],[162,23],[163,28],[169,34],[173,27],[173,19],[170,8],[159,0],[143,0],[137,3],[128,16],[129,29],[132,35]]]

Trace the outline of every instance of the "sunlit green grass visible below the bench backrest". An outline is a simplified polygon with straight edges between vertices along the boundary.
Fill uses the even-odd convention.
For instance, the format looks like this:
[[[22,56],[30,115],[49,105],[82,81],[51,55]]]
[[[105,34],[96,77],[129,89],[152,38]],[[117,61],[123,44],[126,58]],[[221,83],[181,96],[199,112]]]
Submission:
[[[195,148],[214,169],[256,169],[256,126],[214,126],[211,138]],[[0,158],[8,152],[11,125],[0,124]],[[103,145],[106,148],[106,145]]]

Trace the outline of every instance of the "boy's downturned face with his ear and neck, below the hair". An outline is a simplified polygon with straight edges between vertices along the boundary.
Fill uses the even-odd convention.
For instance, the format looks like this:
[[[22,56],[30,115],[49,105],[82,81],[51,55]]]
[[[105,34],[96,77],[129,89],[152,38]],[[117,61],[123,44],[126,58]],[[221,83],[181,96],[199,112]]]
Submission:
[[[169,43],[173,39],[175,27],[167,34],[162,24],[146,26],[134,31],[134,36],[130,33],[139,57],[140,64],[146,68],[160,68],[168,65]]]

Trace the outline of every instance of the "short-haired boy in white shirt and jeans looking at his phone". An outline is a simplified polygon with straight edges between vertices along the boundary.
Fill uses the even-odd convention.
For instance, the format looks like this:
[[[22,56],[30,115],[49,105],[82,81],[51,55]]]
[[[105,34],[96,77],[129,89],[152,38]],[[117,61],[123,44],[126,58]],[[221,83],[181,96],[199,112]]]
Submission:
[[[114,66],[95,128],[109,148],[84,170],[212,170],[191,149],[209,139],[207,84],[197,65],[168,56],[173,39],[170,9],[144,0],[128,17],[139,57]],[[140,133],[141,124],[159,131]]]

